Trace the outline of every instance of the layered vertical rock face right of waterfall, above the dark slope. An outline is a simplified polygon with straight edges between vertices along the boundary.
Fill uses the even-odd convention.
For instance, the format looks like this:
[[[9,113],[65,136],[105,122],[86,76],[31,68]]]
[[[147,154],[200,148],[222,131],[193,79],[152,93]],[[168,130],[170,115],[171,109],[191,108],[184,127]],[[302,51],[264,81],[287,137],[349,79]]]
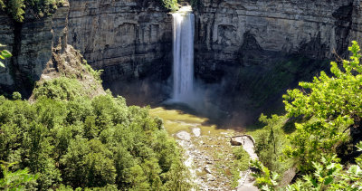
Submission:
[[[280,53],[332,58],[358,35],[351,28],[358,22],[352,18],[359,12],[359,0],[200,2],[195,13],[196,72],[210,81],[215,80],[210,73],[220,75],[224,65],[265,65]]]

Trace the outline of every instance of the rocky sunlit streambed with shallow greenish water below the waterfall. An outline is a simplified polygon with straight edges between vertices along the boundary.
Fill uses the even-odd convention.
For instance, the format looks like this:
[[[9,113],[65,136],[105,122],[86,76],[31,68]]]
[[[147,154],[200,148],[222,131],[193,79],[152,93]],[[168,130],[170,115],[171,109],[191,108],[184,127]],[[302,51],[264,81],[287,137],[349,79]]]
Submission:
[[[232,183],[234,172],[233,147],[230,142],[238,132],[233,129],[217,129],[207,124],[207,119],[184,113],[180,110],[155,108],[151,115],[164,120],[169,135],[176,138],[185,149],[186,166],[190,169],[196,190],[252,190],[250,171],[240,172],[237,187]],[[239,133],[240,134],[240,133]],[[244,139],[244,149],[251,155],[253,142]],[[237,172],[239,173],[239,172]]]

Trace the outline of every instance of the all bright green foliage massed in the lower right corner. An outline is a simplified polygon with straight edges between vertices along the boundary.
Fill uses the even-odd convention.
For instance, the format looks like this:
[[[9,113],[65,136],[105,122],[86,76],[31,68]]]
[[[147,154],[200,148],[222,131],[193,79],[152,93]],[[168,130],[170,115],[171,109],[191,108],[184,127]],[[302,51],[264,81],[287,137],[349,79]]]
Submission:
[[[355,158],[356,165],[343,167],[336,155],[338,147],[350,142],[348,132],[361,128],[362,56],[357,42],[353,42],[349,51],[352,53],[349,61],[343,60],[339,66],[337,62],[331,62],[332,77],[321,72],[312,82],[300,82],[301,89],[288,91],[283,96],[287,111],[284,117],[262,117],[262,121],[268,124],[263,134],[264,137],[269,135],[269,138],[265,137],[268,142],[259,143],[259,147],[271,144],[259,148],[265,153],[266,149],[275,149],[272,146],[275,141],[271,137],[287,134],[286,129],[283,129],[285,120],[281,122],[281,119],[300,119],[282,147],[283,153],[274,153],[279,158],[291,158],[302,177],[293,185],[285,187],[288,190],[360,189],[362,157]],[[280,129],[278,126],[283,130],[275,131]],[[275,135],[276,132],[278,135]],[[362,145],[358,147],[360,149]],[[263,190],[281,188],[278,187],[278,174],[270,171],[270,168],[277,170],[270,159],[261,158],[265,167],[253,163],[259,169],[255,173],[257,186]]]

